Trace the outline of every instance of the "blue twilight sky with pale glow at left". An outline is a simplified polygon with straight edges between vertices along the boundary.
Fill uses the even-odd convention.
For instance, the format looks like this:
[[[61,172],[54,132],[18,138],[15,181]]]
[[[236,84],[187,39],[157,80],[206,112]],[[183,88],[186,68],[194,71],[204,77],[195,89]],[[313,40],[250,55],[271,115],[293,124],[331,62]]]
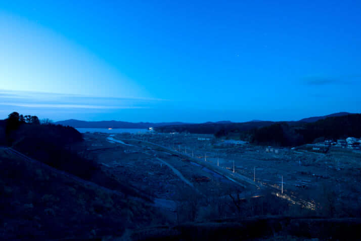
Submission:
[[[0,118],[361,112],[360,1],[1,1]]]

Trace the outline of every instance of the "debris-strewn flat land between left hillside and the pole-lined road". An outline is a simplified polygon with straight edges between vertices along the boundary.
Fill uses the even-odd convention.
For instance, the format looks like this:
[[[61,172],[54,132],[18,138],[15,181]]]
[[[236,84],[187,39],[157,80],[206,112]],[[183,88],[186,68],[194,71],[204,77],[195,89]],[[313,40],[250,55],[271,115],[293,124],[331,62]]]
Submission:
[[[88,151],[120,180],[157,198],[178,200],[189,193],[225,195],[244,189],[243,184],[199,165],[189,156],[135,138],[116,136],[109,140],[108,136],[87,137],[92,143]]]

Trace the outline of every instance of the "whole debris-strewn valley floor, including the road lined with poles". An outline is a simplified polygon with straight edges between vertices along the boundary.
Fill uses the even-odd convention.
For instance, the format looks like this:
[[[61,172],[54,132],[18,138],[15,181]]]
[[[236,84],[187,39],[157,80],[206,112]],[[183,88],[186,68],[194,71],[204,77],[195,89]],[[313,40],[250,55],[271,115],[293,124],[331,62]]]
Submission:
[[[230,145],[195,134],[84,137],[87,155],[154,198],[171,222],[267,214],[359,216],[361,154],[352,150],[331,148],[325,154]]]

